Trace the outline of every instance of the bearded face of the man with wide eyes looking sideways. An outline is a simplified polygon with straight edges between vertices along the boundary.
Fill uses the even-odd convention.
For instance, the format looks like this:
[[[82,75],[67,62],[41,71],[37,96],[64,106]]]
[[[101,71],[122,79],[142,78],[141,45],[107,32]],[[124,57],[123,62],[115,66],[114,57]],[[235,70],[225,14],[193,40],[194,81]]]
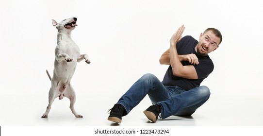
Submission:
[[[216,37],[212,31],[200,34],[199,42],[196,47],[197,54],[200,56],[206,56],[208,53],[218,48],[219,42],[220,38]]]

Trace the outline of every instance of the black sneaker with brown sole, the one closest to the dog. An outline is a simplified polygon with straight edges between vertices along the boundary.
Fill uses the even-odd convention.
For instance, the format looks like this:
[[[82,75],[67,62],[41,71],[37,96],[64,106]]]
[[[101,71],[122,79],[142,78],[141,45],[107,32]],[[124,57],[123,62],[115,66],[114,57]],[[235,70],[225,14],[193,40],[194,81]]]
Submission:
[[[109,111],[111,112],[109,113]],[[121,123],[121,117],[127,115],[126,109],[121,104],[115,104],[109,111],[110,116],[108,120],[116,123]]]

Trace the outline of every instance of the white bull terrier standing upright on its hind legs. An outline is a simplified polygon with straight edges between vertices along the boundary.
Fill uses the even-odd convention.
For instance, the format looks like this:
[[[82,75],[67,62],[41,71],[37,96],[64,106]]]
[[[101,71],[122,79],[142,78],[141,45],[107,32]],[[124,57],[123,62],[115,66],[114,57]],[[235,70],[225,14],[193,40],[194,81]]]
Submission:
[[[77,62],[85,59],[86,63],[90,63],[87,54],[81,54],[77,44],[71,38],[71,31],[75,29],[77,18],[67,18],[60,23],[57,23],[52,19],[53,26],[58,29],[58,41],[55,49],[55,62],[53,78],[51,80],[51,87],[49,90],[49,105],[42,118],[48,118],[48,114],[54,99],[59,97],[59,100],[63,97],[67,97],[70,100],[70,109],[77,118],[82,118],[82,115],[77,114],[74,109],[74,103],[76,101],[75,91],[70,85],[70,80],[75,72]]]

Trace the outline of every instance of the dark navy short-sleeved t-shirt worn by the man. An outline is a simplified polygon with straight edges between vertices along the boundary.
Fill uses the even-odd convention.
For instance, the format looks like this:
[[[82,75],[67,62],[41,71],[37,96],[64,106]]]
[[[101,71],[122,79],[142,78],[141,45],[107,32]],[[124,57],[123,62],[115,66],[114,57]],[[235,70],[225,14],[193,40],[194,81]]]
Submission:
[[[183,54],[196,54],[199,64],[193,65],[196,68],[198,79],[186,79],[173,75],[172,67],[169,66],[167,69],[164,80],[162,81],[164,86],[179,86],[185,90],[190,90],[192,88],[200,86],[201,82],[208,77],[208,75],[214,70],[214,64],[210,57],[207,56],[198,56],[195,50],[198,41],[192,36],[184,36],[177,43],[176,49],[178,55]],[[181,62],[183,66],[192,65],[188,61]]]

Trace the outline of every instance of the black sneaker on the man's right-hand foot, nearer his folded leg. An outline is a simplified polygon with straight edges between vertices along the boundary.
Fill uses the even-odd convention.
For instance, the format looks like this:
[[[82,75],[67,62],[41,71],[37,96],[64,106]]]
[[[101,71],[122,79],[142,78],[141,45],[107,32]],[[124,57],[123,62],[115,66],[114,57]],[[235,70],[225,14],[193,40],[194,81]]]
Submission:
[[[151,105],[146,109],[143,113],[146,115],[146,117],[151,120],[152,122],[156,122],[158,119],[159,114],[162,111],[161,105]]]

